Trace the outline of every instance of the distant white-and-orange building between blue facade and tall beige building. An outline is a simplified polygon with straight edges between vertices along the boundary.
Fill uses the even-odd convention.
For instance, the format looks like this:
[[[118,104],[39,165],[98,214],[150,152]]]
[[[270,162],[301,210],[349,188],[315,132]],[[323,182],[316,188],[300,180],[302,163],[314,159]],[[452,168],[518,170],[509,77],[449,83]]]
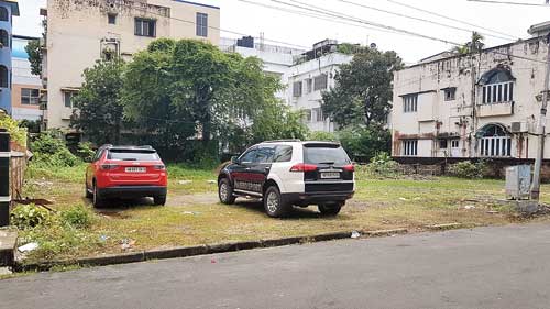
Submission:
[[[40,109],[42,80],[32,74],[25,46],[38,37],[13,35],[12,40],[12,117],[18,120],[41,120],[44,111]]]

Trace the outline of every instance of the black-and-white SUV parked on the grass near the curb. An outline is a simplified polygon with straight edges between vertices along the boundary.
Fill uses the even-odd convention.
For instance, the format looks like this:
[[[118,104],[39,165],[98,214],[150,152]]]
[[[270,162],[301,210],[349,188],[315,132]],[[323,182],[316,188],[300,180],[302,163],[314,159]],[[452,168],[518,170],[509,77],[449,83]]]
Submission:
[[[354,166],[342,146],[332,142],[263,142],[233,157],[218,176],[221,202],[262,198],[270,217],[309,205],[336,216],[354,190]]]

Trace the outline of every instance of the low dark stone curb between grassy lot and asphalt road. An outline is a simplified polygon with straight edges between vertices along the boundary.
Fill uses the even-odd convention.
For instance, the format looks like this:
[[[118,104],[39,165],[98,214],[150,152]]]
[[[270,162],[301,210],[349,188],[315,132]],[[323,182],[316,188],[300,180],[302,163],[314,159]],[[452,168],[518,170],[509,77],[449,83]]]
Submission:
[[[359,231],[362,236],[387,236],[393,234],[406,234],[407,229],[394,229],[394,230],[377,230],[377,231]],[[156,249],[146,251],[135,251],[129,253],[120,254],[109,254],[102,256],[91,256],[91,257],[80,257],[80,258],[69,258],[69,260],[54,260],[44,261],[31,264],[15,263],[13,266],[14,272],[45,272],[50,271],[54,266],[69,266],[69,265],[80,265],[80,266],[106,266],[114,264],[127,264],[135,262],[144,262],[150,260],[164,260],[164,258],[175,258],[175,257],[189,257],[197,255],[207,255],[215,253],[224,253],[233,251],[243,251],[258,247],[275,247],[293,244],[304,244],[312,242],[324,242],[332,240],[349,239],[352,235],[352,231],[348,232],[332,232],[323,233],[317,235],[308,236],[294,236],[294,238],[283,238],[283,239],[268,239],[268,240],[257,240],[257,241],[243,241],[243,242],[230,242],[230,243],[219,243],[219,244],[208,244],[208,245],[195,245],[195,246],[180,246],[180,247],[169,247],[169,249]]]

